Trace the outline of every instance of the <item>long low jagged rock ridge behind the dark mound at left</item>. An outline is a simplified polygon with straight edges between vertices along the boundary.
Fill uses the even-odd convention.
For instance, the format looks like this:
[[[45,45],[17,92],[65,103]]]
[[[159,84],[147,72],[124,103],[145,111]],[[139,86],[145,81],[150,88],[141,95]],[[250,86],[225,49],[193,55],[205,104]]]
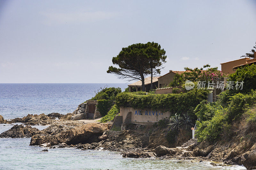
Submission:
[[[23,118],[15,118],[12,119],[11,121],[7,121],[8,124],[12,123],[24,123],[25,125],[47,125],[47,124],[52,124],[56,122],[54,118],[48,117],[45,114],[40,114],[40,115],[30,115],[28,114],[27,116]]]

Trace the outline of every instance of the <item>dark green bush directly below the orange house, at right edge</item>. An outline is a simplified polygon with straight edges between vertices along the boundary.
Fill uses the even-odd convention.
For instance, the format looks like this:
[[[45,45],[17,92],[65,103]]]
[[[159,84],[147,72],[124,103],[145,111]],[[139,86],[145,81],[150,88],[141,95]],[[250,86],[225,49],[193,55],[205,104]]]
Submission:
[[[230,79],[228,81],[238,81],[242,82],[243,89],[234,89],[233,91],[239,92],[250,92],[251,89],[256,89],[256,65],[245,65],[241,68],[238,68],[235,73],[229,75]]]

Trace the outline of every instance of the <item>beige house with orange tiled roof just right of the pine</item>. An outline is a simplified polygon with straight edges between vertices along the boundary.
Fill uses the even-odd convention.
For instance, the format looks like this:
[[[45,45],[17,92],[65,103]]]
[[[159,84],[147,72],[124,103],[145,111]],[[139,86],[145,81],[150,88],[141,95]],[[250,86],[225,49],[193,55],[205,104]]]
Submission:
[[[170,70],[169,73],[164,74],[163,76],[158,78],[158,88],[160,89],[160,88],[163,88],[164,86],[169,85],[172,82],[175,74],[183,74],[185,72],[188,72],[188,71],[172,71],[172,70]]]

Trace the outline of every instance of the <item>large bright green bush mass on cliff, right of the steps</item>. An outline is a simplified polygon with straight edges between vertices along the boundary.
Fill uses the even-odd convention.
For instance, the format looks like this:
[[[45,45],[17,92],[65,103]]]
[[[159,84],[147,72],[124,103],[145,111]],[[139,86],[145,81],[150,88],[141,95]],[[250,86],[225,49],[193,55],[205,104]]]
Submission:
[[[224,109],[221,109],[221,102],[212,104],[200,103],[196,107],[198,111],[196,115],[202,119],[197,122],[196,129],[196,136],[199,141],[208,140],[214,142],[220,139],[223,134],[225,134],[226,138],[228,135],[230,136],[230,124],[232,124],[232,121],[240,119],[244,112],[248,115],[250,113],[248,112],[248,108],[254,107],[256,103],[256,91],[252,91],[249,94],[238,93],[228,98],[228,106]],[[251,115],[248,116],[250,117],[248,121],[253,122],[255,114],[251,113]]]

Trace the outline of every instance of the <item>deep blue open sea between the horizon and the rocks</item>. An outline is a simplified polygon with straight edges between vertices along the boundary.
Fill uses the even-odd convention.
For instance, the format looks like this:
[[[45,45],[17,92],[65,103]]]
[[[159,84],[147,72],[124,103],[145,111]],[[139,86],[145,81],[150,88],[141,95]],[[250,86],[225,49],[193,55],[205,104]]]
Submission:
[[[127,88],[126,83],[0,83],[0,115],[4,119],[28,114],[73,112],[100,88]]]

